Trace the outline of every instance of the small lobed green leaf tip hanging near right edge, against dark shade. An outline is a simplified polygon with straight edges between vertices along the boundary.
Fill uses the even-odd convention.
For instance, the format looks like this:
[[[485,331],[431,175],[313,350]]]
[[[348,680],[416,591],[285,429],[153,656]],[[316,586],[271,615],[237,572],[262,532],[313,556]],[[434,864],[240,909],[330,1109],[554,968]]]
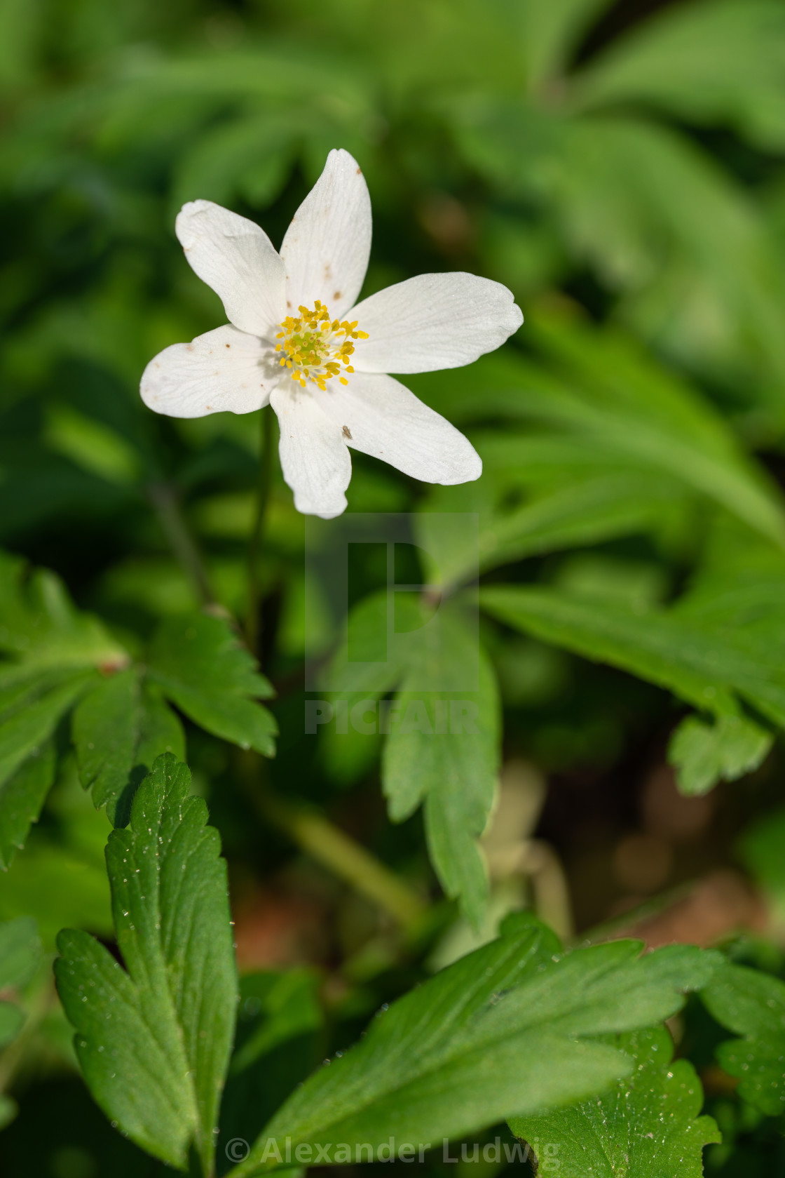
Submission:
[[[719,716],[714,723],[686,716],[671,736],[667,759],[683,794],[705,794],[718,781],[757,769],[772,743],[772,734],[746,716]]]

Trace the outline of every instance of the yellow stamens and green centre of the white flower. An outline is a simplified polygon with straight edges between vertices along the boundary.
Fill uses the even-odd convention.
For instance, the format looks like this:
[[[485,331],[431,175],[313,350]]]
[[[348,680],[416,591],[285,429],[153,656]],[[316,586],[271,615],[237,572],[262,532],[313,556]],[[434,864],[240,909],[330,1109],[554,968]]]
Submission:
[[[350,357],[354,351],[353,339],[367,339],[367,331],[357,330],[357,319],[341,323],[331,319],[330,311],[319,299],[313,304],[313,311],[299,306],[300,315],[287,315],[279,326],[282,329],[275,336],[282,343],[275,344],[275,351],[281,352],[281,368],[291,369],[291,377],[305,389],[306,380],[313,380],[324,390],[327,380],[338,377],[341,384],[348,384],[341,375],[353,372]]]

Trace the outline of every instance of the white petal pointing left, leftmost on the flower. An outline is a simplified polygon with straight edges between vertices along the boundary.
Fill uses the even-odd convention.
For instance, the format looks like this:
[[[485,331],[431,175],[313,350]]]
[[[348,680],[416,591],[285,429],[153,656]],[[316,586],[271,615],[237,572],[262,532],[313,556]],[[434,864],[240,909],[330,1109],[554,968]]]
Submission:
[[[141,399],[168,417],[250,413],[270,401],[281,378],[270,346],[226,324],[189,344],[172,344],[145,369]]]

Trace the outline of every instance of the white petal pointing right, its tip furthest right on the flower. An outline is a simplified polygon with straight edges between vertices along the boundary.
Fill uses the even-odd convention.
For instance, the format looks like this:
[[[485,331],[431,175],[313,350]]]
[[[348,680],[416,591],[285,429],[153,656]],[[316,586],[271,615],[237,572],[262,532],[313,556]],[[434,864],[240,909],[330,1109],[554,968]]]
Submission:
[[[354,345],[362,372],[433,372],[471,364],[518,331],[524,317],[501,283],[477,274],[420,274],[352,309],[368,339]]]

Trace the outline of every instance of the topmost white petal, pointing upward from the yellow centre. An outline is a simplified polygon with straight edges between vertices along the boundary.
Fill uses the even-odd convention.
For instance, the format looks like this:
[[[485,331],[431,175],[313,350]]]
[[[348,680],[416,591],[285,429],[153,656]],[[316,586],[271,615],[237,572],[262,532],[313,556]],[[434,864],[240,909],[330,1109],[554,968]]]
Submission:
[[[320,299],[332,316],[342,317],[360,293],[370,253],[365,177],[347,151],[331,151],[281,245],[290,310]]]

